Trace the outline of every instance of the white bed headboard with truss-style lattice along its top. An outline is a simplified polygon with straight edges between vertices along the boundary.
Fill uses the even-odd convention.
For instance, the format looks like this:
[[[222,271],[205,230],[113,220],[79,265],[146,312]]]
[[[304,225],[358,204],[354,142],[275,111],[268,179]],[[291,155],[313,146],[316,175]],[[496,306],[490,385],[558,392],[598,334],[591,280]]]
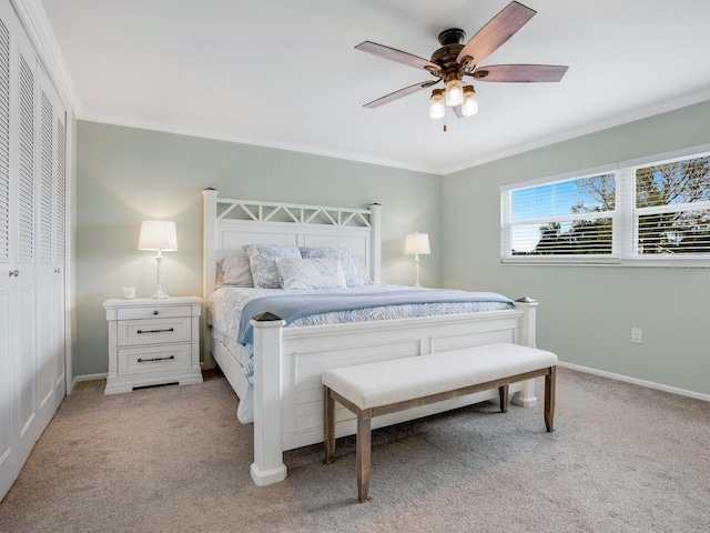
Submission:
[[[379,282],[382,205],[369,209],[327,208],[294,203],[219,198],[214,189],[203,197],[203,294],[214,292],[226,255],[246,257],[243,244],[337,247],[362,258],[371,279]]]

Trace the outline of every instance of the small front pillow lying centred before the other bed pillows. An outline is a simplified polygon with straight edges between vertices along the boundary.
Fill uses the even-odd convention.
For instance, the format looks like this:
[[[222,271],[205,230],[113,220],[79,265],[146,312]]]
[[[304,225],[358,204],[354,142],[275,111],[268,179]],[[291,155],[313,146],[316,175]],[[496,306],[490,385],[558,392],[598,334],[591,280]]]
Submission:
[[[343,266],[336,258],[276,261],[284,289],[345,289]]]

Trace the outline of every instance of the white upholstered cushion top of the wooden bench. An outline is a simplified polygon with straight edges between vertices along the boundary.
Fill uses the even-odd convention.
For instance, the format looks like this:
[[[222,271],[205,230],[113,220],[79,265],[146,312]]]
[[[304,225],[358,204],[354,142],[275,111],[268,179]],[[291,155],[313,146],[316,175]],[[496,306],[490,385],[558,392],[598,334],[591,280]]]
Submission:
[[[454,391],[557,364],[544,350],[499,343],[332,369],[323,384],[361,409]]]

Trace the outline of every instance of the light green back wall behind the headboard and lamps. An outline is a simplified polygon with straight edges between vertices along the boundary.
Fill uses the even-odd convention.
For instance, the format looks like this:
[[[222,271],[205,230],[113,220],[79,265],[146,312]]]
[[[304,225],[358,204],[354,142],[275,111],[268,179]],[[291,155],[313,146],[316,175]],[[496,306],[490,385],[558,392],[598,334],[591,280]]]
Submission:
[[[178,224],[178,252],[165,253],[163,288],[202,292],[202,194],[344,208],[383,204],[383,281],[412,284],[404,235],[428,232],[422,283],[442,283],[442,177],[231,142],[78,122],[75,336],[73,374],[108,371],[101,303],[122,286],[148,296],[155,260],[136,250],[141,220]]]

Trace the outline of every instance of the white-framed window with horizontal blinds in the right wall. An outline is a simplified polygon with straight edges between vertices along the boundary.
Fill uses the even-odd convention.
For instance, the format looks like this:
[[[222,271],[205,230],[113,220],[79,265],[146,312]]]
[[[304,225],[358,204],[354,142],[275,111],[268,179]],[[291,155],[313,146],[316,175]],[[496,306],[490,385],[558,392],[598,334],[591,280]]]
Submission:
[[[500,212],[504,262],[710,263],[710,152],[504,187]]]

